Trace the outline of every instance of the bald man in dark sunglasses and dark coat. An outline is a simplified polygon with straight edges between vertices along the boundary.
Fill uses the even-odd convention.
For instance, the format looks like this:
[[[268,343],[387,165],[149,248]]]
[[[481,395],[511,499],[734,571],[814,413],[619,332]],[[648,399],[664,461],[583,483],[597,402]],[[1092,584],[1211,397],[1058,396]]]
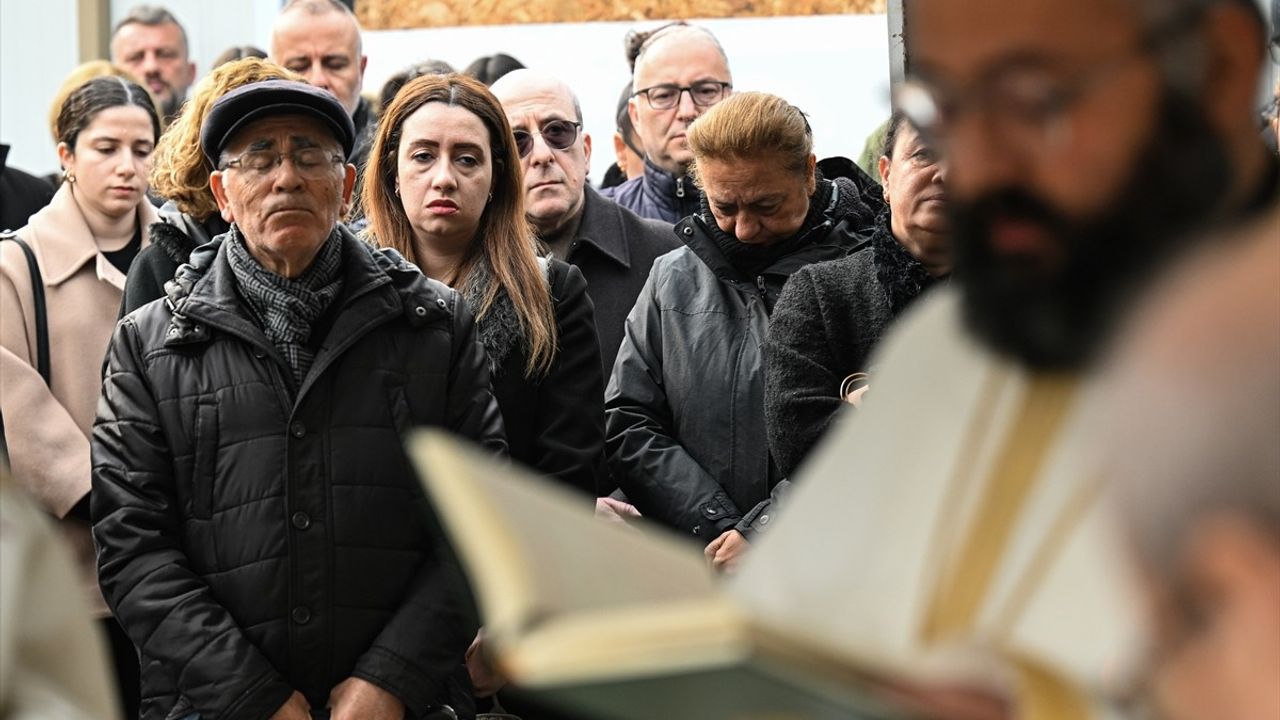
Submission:
[[[525,217],[557,258],[586,278],[595,306],[604,377],[622,346],[622,325],[649,268],[680,246],[671,227],[646,220],[600,197],[586,182],[591,136],[581,129],[573,91],[535,70],[515,70],[493,83],[520,149]]]

